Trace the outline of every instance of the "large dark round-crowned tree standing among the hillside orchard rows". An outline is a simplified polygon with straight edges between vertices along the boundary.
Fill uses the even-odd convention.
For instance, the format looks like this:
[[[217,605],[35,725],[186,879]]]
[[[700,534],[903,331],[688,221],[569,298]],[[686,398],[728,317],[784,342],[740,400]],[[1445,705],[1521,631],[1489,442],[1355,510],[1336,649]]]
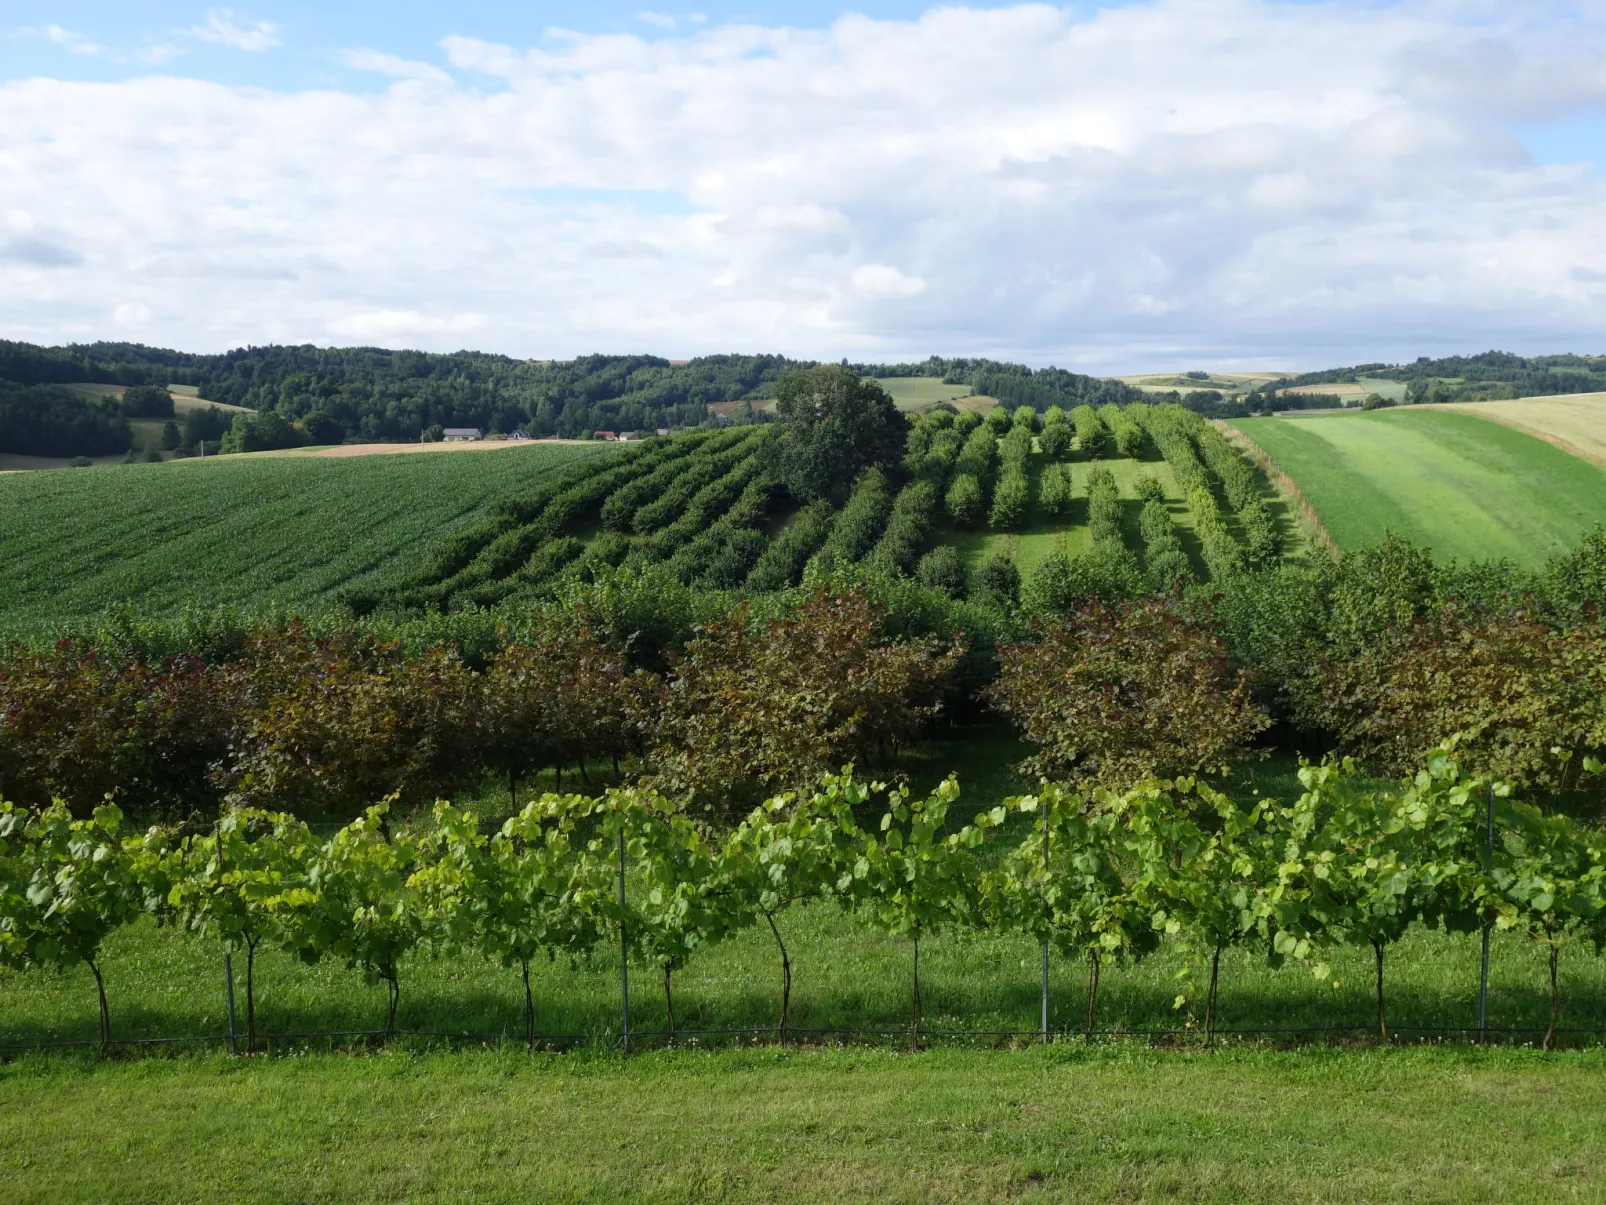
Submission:
[[[896,466],[909,435],[885,389],[835,365],[782,376],[776,419],[781,477],[803,501],[842,503],[866,468]]]

